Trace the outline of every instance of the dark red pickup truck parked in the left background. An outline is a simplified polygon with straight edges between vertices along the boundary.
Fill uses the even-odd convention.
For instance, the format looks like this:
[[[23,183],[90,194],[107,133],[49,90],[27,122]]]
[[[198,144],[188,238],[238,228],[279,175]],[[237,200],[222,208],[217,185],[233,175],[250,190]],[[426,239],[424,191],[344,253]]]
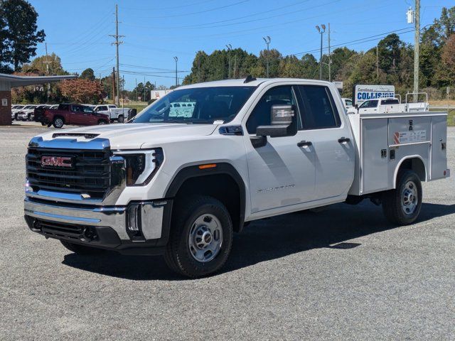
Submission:
[[[95,126],[109,124],[109,115],[93,112],[92,108],[81,104],[59,104],[58,109],[35,109],[35,121],[43,126],[61,128],[64,124],[77,126]]]

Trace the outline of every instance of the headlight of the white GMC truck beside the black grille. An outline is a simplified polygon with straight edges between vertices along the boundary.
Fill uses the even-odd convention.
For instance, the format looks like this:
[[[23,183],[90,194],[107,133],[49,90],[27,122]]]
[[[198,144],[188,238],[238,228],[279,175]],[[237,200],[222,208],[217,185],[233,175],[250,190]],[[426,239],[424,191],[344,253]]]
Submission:
[[[125,160],[127,186],[144,186],[158,171],[164,156],[161,148],[144,151],[119,151],[114,155]]]

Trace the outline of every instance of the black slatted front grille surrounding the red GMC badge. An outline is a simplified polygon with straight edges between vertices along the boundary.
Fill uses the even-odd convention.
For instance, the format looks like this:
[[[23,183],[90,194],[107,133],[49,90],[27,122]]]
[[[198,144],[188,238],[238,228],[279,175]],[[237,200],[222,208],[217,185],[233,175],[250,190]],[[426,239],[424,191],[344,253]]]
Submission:
[[[42,166],[43,156],[71,158],[73,167]],[[88,194],[102,198],[110,187],[109,150],[28,148],[27,180],[36,190]]]

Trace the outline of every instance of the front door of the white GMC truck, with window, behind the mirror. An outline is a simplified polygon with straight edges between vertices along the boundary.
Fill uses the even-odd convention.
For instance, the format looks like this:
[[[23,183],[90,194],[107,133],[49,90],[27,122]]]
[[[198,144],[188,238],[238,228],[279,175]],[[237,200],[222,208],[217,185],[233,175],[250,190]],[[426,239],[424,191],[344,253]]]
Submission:
[[[291,85],[266,88],[248,116],[245,136],[252,213],[308,202],[314,199],[315,158],[311,146],[302,145],[304,136],[267,137],[267,144],[255,148],[250,137],[257,126],[271,124],[273,105],[299,107]]]

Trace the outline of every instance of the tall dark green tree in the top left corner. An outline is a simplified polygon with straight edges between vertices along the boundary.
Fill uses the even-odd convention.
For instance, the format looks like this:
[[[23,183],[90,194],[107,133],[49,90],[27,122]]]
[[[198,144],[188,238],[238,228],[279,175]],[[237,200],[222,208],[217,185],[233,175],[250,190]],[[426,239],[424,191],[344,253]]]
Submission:
[[[0,24],[0,48],[7,52],[0,55],[0,64],[12,64],[18,71],[36,55],[36,44],[43,43],[45,33],[38,31],[38,13],[25,0],[0,1],[0,18],[4,21]],[[6,29],[1,29],[1,25]]]

